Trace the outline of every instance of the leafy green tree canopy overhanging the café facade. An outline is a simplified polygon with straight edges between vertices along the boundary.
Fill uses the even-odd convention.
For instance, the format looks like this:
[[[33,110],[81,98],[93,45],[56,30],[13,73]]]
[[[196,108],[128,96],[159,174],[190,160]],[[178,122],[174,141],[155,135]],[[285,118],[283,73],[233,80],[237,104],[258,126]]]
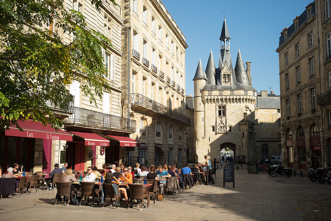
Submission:
[[[100,13],[101,0],[90,1]],[[74,40],[64,43],[64,33]],[[61,126],[49,104],[67,106],[73,80],[96,105],[94,94],[110,89],[105,46],[111,41],[62,0],[0,0],[0,128],[27,119]]]

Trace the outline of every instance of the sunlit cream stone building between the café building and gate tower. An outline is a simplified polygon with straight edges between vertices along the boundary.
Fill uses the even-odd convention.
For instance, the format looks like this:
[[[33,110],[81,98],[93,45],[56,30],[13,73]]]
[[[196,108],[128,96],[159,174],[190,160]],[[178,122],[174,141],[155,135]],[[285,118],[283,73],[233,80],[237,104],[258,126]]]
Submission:
[[[186,162],[185,36],[160,0],[121,1],[121,116],[137,122],[130,164]],[[123,159],[124,159],[123,158]]]

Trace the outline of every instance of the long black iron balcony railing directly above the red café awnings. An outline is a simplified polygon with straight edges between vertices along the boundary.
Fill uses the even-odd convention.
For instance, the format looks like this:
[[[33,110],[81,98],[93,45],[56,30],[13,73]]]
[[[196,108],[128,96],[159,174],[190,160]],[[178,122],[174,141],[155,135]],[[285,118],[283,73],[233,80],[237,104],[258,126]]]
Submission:
[[[136,131],[135,120],[77,107],[70,107],[69,111],[73,114],[64,120],[65,124],[77,123],[105,129],[126,130],[132,133]]]

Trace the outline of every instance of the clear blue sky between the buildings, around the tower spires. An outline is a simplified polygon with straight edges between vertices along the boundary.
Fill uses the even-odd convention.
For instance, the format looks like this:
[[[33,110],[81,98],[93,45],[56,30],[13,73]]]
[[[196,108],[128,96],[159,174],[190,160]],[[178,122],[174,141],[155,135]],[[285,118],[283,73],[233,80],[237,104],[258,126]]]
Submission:
[[[238,47],[244,64],[251,61],[253,87],[279,95],[278,47],[280,32],[313,0],[163,0],[166,9],[186,37],[186,94],[193,94],[193,77],[201,58],[204,70],[210,49],[218,66],[224,13],[230,40],[232,63]],[[246,66],[246,65],[245,65]]]

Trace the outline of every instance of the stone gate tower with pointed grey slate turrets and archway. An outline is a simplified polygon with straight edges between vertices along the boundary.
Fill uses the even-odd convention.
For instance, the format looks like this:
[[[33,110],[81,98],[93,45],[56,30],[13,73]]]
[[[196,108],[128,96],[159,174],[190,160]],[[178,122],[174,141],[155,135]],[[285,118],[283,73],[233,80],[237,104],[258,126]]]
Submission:
[[[254,105],[257,91],[251,86],[251,62],[246,62],[246,69],[238,50],[236,66],[232,66],[231,38],[225,18],[219,39],[218,67],[215,67],[211,51],[206,72],[199,60],[193,78],[197,160],[203,162],[204,155],[217,158],[223,143],[233,143],[235,156],[245,155],[246,162],[253,163],[256,160]]]

